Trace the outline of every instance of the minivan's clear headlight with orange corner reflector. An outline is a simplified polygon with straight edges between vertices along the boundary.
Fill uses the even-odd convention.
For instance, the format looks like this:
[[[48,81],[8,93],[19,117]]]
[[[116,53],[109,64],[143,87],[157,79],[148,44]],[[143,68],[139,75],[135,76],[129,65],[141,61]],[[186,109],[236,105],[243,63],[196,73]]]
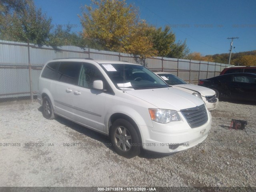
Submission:
[[[169,123],[172,121],[180,121],[180,116],[175,110],[168,109],[148,109],[150,117],[153,121],[159,123]]]

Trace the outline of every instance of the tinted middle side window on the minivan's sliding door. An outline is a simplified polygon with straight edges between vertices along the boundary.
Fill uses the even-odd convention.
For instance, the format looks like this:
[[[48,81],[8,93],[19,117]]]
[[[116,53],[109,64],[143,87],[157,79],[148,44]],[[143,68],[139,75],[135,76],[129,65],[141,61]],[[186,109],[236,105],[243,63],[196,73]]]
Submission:
[[[77,85],[81,63],[61,62],[58,70],[58,80],[61,82]]]

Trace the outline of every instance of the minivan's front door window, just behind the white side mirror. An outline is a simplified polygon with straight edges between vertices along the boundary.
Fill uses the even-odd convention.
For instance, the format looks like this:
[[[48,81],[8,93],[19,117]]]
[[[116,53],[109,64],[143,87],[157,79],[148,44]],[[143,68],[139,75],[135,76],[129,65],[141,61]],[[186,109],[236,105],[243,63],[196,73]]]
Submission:
[[[95,80],[103,81],[103,88],[106,89],[106,80],[100,70],[90,63],[84,63],[79,78],[79,86],[92,89]]]

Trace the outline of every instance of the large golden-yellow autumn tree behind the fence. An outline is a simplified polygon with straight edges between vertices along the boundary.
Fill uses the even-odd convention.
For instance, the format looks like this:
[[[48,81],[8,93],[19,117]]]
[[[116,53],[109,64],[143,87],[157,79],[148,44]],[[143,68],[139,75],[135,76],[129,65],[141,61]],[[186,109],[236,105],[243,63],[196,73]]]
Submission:
[[[80,16],[83,36],[96,49],[124,52],[146,58],[156,56],[148,25],[138,17],[137,8],[126,0],[92,0]]]

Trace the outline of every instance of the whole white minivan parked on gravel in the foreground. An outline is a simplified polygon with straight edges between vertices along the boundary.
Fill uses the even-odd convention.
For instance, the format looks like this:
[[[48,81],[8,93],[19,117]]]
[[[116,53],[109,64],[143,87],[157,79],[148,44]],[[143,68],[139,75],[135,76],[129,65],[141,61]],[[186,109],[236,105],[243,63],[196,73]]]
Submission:
[[[142,149],[171,154],[206,139],[212,117],[203,100],[170,87],[144,66],[82,58],[47,62],[40,74],[43,116],[62,116],[110,136],[126,158]]]

